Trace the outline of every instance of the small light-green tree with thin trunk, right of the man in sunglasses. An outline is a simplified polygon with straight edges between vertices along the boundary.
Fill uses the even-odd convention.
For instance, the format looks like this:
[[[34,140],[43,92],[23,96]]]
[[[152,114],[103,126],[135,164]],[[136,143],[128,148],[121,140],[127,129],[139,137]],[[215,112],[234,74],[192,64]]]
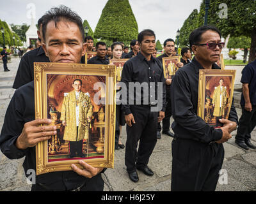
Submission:
[[[246,36],[230,37],[228,40],[227,48],[243,48],[244,59],[243,62],[247,61],[248,48],[251,46],[251,38]]]

